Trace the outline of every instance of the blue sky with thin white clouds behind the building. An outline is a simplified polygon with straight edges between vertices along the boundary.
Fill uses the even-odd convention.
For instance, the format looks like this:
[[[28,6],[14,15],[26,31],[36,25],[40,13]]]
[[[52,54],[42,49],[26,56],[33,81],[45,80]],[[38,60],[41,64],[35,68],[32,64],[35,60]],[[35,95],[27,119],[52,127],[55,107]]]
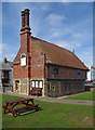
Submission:
[[[69,0],[68,0],[69,1]],[[21,12],[30,10],[31,35],[70,51],[93,65],[92,2],[2,2],[2,58],[13,61],[19,49]],[[0,22],[1,24],[1,22]]]

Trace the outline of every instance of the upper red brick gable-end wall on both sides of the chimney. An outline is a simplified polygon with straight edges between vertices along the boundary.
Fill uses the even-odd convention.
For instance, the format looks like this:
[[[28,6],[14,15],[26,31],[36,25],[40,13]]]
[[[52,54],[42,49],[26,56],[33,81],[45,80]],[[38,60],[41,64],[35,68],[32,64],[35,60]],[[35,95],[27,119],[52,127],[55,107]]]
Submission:
[[[26,40],[23,36],[21,41],[22,46],[19,55],[26,53]],[[28,58],[27,66],[22,67],[21,61],[13,66],[14,78],[27,78],[27,75],[29,75],[30,79],[44,78],[44,54],[39,50],[39,47],[37,47],[36,43],[32,43],[32,39],[30,39],[29,53],[26,53],[26,55]],[[29,72],[29,74],[27,74],[27,72]]]

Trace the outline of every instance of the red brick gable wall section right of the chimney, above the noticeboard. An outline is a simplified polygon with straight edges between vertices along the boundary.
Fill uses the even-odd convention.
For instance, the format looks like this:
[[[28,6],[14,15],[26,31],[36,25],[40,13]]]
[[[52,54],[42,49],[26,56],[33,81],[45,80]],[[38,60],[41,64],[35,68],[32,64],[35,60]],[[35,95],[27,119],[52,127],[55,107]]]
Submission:
[[[39,49],[38,44],[32,43],[31,39],[31,70],[30,78],[44,78],[44,54]]]

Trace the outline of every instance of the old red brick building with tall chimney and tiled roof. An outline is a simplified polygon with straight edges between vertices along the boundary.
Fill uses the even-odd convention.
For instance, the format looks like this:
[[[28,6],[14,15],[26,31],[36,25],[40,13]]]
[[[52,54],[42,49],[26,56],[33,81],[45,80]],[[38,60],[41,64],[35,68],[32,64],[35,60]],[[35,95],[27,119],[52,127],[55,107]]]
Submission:
[[[84,91],[89,68],[64,48],[31,36],[29,10],[22,11],[21,48],[13,63],[14,92],[62,96]]]

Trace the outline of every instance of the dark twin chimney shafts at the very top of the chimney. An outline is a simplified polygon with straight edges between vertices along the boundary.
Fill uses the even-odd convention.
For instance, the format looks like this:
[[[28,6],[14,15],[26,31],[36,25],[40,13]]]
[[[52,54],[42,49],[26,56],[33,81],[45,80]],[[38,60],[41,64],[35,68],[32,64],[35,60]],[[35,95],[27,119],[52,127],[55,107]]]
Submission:
[[[25,9],[24,11],[22,11],[22,29],[21,29],[21,31],[25,31],[25,30],[30,31],[29,10],[28,9]]]

